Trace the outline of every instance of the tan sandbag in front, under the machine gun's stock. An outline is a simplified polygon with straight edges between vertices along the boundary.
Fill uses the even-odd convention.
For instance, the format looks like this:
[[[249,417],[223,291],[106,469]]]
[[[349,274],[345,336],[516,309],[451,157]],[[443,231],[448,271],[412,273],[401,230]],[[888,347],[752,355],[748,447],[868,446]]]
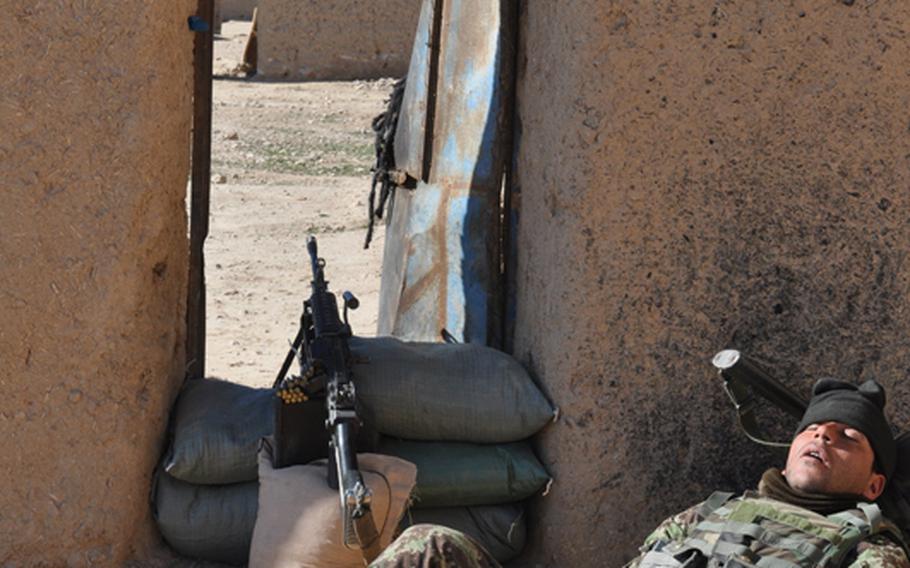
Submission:
[[[350,568],[363,566],[359,549],[342,537],[338,491],[326,482],[326,464],[272,467],[272,446],[259,453],[259,515],[250,568]],[[382,548],[395,536],[414,488],[417,468],[392,456],[358,454]]]

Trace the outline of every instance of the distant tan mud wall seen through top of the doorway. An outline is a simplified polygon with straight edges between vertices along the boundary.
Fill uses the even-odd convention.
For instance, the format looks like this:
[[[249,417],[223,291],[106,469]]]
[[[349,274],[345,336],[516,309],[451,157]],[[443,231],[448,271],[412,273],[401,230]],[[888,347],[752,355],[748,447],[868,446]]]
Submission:
[[[258,74],[348,80],[408,72],[420,0],[260,0]]]

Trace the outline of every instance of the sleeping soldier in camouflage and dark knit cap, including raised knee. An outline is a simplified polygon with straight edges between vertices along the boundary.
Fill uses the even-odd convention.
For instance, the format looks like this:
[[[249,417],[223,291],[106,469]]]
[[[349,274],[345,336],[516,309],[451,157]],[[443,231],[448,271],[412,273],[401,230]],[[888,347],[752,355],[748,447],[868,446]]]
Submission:
[[[783,471],[766,471],[757,491],[715,493],[670,517],[626,567],[910,568],[900,529],[874,504],[897,462],[884,389],[822,379],[812,394]],[[496,566],[470,538],[428,525],[405,531],[371,564]]]

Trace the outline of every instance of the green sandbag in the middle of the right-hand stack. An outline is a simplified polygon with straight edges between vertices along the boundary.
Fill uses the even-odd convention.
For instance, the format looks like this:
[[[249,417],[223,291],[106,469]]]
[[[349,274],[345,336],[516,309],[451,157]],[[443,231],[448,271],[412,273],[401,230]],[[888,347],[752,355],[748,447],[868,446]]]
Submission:
[[[379,452],[417,466],[414,507],[495,505],[527,499],[550,476],[527,442],[481,445],[383,438]]]

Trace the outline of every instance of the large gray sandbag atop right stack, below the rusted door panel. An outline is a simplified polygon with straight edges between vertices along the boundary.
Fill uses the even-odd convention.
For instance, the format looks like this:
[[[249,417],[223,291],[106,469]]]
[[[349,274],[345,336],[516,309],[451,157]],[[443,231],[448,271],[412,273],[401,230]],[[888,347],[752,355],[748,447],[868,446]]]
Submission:
[[[355,337],[358,400],[383,434],[498,444],[527,438],[554,410],[512,357],[482,345]]]

